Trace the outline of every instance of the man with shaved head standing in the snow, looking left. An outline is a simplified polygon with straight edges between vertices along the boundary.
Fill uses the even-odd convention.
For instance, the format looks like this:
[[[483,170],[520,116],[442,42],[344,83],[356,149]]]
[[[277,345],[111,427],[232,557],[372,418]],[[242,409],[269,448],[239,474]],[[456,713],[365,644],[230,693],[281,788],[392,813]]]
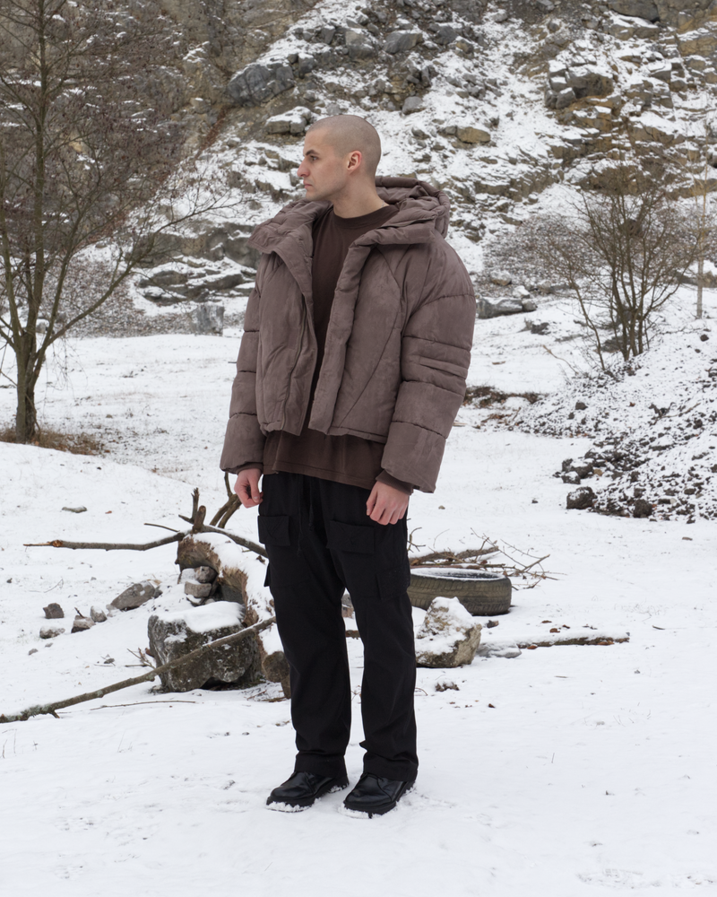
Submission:
[[[267,799],[303,809],[346,788],[350,678],[341,597],[364,646],[364,773],[344,800],[383,814],[418,771],[406,509],[433,492],[465,394],[475,296],[445,243],[448,200],[379,178],[357,116],[311,126],[306,197],[261,224],[223,470],[259,506],[290,667],[294,773]],[[263,474],[263,492],[259,479]]]

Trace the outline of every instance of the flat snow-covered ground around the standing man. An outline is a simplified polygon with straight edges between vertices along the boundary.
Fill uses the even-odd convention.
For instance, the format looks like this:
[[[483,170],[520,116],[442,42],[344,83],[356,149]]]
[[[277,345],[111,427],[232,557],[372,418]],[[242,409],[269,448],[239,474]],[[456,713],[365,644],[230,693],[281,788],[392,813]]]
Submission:
[[[523,316],[479,322],[471,384],[559,390],[566,363],[541,345],[581,358],[575,341],[559,342],[572,319],[560,308],[530,318],[550,317],[554,337],[523,331]],[[40,414],[97,432],[108,452],[0,443],[0,713],[141,672],[129,652],[147,644],[152,603],[49,642],[39,640],[42,607],[59,602],[71,623],[75,606],[87,614],[132,582],[167,582],[175,547],[24,544],[156,538],[143,523],[179,525],[195,485],[210,512],[219,507],[233,336],[69,344],[66,376],[48,369]],[[0,390],[0,420],[12,410],[12,390]],[[476,429],[477,414],[459,415],[436,493],[411,499],[414,543],[460,550],[489,536],[516,557],[549,554],[549,578],[516,580],[511,613],[484,640],[534,643],[557,628],[629,641],[419,669],[417,786],[370,821],[340,814],[341,794],[301,814],[264,806],[293,761],[279,685],[173,695],[143,684],[59,719],[0,726],[3,897],[717,893],[717,524],[567,511],[553,473],[592,440]],[[87,511],[62,510],[78,505]],[[255,538],[255,514],[240,510],[232,527]],[[349,649],[354,782],[358,640]],[[458,690],[436,692],[445,678]]]

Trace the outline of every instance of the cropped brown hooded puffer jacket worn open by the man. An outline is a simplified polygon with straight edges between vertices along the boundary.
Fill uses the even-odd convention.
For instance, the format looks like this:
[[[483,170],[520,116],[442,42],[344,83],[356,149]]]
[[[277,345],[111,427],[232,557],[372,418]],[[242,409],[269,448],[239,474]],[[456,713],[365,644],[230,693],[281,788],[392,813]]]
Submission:
[[[399,211],[356,239],[334,293],[308,426],[385,443],[382,466],[433,492],[465,395],[476,300],[445,242],[445,194],[376,179]],[[312,224],[326,202],[299,200],[256,228],[263,253],[246,308],[222,470],[261,462],[267,432],[301,432],[316,360]]]

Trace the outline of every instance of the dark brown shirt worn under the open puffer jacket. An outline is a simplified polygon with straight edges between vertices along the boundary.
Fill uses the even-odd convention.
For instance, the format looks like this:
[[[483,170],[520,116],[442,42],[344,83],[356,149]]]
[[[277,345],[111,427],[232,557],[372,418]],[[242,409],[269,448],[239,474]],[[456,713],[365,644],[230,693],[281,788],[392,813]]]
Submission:
[[[367,231],[387,222],[397,211],[394,205],[357,218],[340,218],[328,209],[314,223],[314,264],[312,287],[314,293],[314,330],[316,335],[316,367],[311,384],[311,399],[307,412],[310,417],[314,390],[324,359],[326,331],[329,327],[333,293],[341,274],[351,243]],[[403,492],[412,492],[410,483],[403,483],[381,469],[384,445],[362,440],[358,436],[326,436],[309,430],[305,422],[299,436],[284,431],[272,431],[263,450],[263,473],[283,470],[290,474],[307,474],[337,483],[348,483],[363,489],[373,488],[376,479]],[[250,466],[250,465],[246,465]]]

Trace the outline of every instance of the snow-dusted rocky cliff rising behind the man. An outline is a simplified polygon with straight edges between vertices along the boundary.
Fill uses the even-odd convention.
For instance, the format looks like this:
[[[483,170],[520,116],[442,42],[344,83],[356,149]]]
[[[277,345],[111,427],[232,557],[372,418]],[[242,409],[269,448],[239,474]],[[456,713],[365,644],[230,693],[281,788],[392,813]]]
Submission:
[[[384,140],[380,173],[446,191],[451,239],[473,270],[486,237],[631,149],[717,164],[717,2],[217,0],[168,13],[187,152],[201,148],[239,205],[229,222],[177,236],[187,264],[143,277],[153,302],[246,296],[246,234],[302,195],[304,130],[326,115],[367,117]],[[708,181],[717,187],[712,167]]]

